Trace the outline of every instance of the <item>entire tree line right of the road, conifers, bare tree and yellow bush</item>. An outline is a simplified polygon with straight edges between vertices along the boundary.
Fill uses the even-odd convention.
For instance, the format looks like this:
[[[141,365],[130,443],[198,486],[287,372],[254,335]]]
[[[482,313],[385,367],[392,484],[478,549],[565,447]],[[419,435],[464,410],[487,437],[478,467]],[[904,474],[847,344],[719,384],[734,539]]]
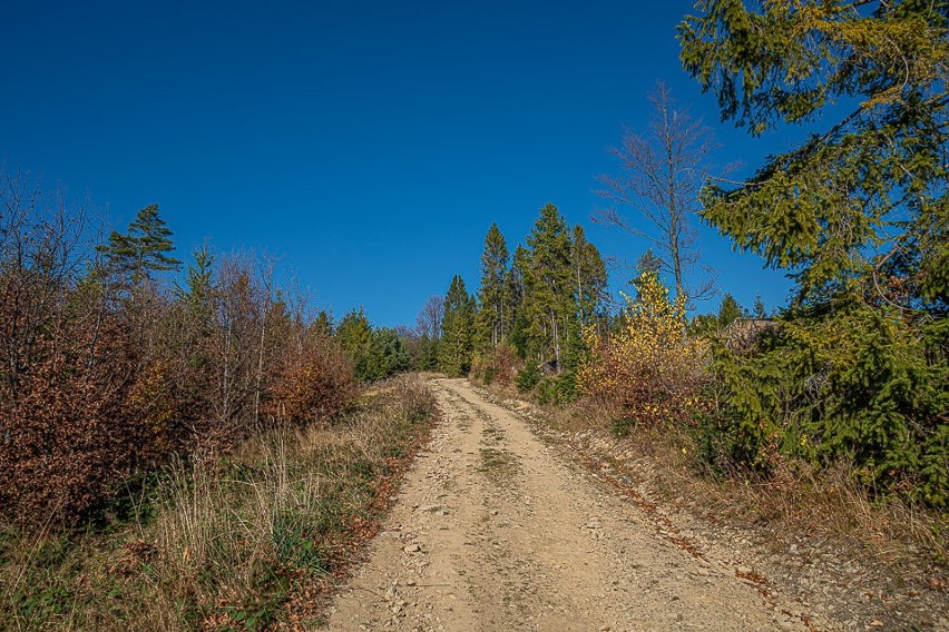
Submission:
[[[714,466],[767,476],[845,462],[869,491],[945,506],[947,33],[946,1],[703,3],[678,28],[681,59],[724,120],[754,136],[831,122],[730,180],[661,87],[649,131],[627,131],[622,174],[601,179],[616,206],[594,216],[648,248],[625,305],[601,310],[598,253],[546,207],[509,267],[489,233],[474,298],[452,282],[443,368],[599,398],[620,431],[684,427]],[[832,120],[839,102],[853,109]],[[687,316],[713,290],[688,274],[702,269],[696,214],[794,282],[776,314],[756,299],[761,327],[743,344],[717,335],[747,314],[733,297],[717,316]]]

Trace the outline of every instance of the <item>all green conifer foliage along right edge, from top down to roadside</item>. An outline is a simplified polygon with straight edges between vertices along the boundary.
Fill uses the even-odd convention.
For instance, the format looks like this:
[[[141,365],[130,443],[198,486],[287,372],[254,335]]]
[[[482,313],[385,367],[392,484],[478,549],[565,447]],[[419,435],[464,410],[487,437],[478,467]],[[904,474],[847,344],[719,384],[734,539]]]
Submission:
[[[703,217],[796,296],[759,354],[716,354],[738,453],[773,437],[845,457],[881,491],[949,501],[949,2],[708,0],[679,27],[683,66],[753,135],[850,113]]]

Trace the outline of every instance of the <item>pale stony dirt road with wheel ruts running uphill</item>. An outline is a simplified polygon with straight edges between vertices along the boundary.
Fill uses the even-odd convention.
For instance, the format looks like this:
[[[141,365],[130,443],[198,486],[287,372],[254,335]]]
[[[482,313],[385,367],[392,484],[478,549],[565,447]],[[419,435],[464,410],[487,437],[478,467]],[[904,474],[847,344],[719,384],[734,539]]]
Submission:
[[[804,630],[463,379],[330,630]]]

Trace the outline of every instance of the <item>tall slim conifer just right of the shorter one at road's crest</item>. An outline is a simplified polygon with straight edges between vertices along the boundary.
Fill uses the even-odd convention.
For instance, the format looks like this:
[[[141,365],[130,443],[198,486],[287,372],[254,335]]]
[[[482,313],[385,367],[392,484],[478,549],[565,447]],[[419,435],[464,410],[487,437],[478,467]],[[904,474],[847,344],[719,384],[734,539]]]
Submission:
[[[493,350],[505,339],[508,332],[506,280],[508,277],[508,246],[497,224],[491,224],[485,237],[485,250],[481,254],[481,289],[478,312],[478,348]]]

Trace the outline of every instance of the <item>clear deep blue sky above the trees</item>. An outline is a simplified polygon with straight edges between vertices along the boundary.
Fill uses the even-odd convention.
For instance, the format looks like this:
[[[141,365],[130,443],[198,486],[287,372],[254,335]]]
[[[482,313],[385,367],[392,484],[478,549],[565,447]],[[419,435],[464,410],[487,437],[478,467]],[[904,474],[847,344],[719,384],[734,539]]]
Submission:
[[[722,164],[785,148],[720,125],[682,71],[691,9],[13,0],[0,160],[88,197],[114,228],[157,203],[182,255],[205,239],[275,253],[337,317],[363,305],[376,325],[413,324],[452,274],[477,286],[491,221],[512,248],[547,201],[604,254],[636,258],[643,244],[589,214],[657,79],[715,129]],[[785,302],[783,273],[701,235],[723,290]]]

